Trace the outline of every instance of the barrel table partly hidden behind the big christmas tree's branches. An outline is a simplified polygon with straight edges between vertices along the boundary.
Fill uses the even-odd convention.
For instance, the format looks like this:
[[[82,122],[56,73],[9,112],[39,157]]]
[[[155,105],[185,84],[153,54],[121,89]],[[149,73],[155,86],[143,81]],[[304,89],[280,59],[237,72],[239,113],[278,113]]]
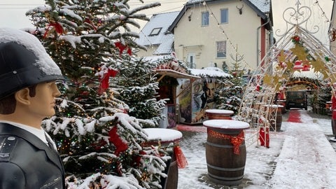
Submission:
[[[162,128],[148,128],[144,129],[148,134],[148,142],[143,146],[168,146],[169,144],[177,143],[182,138],[182,133],[177,130],[162,129]],[[159,144],[160,141],[160,144]],[[160,185],[163,189],[176,189],[179,184],[179,167],[177,165],[174,151],[169,153],[171,160],[166,162],[165,174],[167,177],[161,177]]]

